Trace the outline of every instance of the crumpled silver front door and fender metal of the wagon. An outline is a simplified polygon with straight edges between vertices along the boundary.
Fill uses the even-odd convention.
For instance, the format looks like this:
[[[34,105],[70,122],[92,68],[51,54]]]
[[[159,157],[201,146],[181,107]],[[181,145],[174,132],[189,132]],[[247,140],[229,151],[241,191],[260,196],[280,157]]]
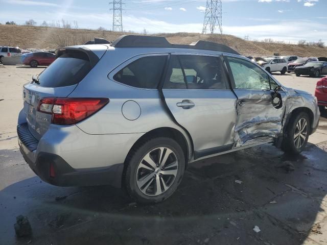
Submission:
[[[305,107],[314,115],[312,127],[319,121],[319,109],[315,97],[305,91],[284,88],[279,92],[283,106],[272,106],[271,91],[235,90],[237,121],[234,147],[248,145],[262,138],[276,138],[285,130],[287,116],[296,108]]]

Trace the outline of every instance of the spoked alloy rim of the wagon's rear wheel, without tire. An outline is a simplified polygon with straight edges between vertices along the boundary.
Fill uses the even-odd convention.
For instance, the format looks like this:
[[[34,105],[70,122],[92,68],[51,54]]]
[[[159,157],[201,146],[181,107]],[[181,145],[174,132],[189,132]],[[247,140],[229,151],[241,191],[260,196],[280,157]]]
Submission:
[[[167,147],[156,148],[148,152],[138,164],[137,187],[146,195],[160,195],[171,187],[177,172],[175,153]]]

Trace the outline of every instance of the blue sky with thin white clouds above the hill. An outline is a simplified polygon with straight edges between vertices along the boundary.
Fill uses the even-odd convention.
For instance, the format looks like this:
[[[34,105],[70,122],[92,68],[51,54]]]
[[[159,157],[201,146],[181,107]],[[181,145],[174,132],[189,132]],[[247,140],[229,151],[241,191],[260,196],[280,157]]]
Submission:
[[[0,0],[0,23],[37,25],[64,19],[79,28],[112,29],[111,0]],[[123,29],[148,33],[202,32],[206,0],[123,0]],[[223,33],[327,43],[327,0],[222,0]],[[1,33],[0,33],[1,39]]]

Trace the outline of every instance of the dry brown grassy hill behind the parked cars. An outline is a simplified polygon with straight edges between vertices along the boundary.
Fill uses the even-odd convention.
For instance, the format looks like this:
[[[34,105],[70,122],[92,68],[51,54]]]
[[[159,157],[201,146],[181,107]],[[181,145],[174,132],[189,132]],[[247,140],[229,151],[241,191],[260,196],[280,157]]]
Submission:
[[[95,37],[109,41],[126,33],[85,29],[62,29],[52,27],[31,27],[0,25],[0,45],[21,48],[57,48],[60,46],[83,44]],[[327,47],[306,46],[273,42],[245,41],[232,35],[209,35],[199,33],[162,33],[172,43],[189,44],[197,40],[224,43],[245,56],[298,55],[327,57]]]

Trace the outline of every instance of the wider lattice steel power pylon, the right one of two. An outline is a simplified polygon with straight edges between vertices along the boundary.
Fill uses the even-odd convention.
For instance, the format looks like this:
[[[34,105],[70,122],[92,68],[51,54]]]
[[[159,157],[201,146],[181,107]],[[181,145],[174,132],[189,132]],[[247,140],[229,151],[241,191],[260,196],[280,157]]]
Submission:
[[[213,34],[219,28],[220,34],[222,30],[222,4],[221,0],[207,0],[203,21],[202,34],[209,31]]]

